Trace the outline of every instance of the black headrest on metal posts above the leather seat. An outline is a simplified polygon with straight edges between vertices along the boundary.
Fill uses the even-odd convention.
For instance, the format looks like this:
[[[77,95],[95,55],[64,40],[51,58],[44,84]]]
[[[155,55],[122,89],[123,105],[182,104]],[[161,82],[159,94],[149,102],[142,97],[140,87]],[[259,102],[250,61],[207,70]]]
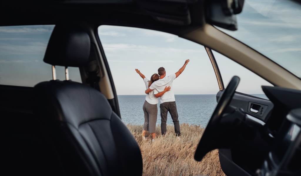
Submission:
[[[82,28],[56,25],[44,56],[44,62],[51,65],[80,67],[88,62],[90,37]]]

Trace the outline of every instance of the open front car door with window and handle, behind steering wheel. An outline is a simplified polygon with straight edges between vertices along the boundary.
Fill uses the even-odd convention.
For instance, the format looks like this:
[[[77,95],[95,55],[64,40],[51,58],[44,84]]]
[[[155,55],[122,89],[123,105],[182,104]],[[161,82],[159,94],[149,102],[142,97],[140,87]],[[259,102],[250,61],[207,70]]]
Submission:
[[[240,86],[237,88],[237,92],[234,94],[230,105],[243,109],[249,120],[264,125],[270,117],[274,105],[264,95],[261,90],[261,86],[272,86],[272,84],[224,55],[221,55],[207,47],[205,47],[205,49],[212,62],[219,83],[220,90],[216,94],[216,101],[219,101],[219,97],[226,88],[231,77],[237,75],[241,80]],[[244,91],[244,93],[239,91]],[[233,152],[235,151],[231,151],[230,149],[219,149],[220,164],[225,174],[251,175],[250,172],[252,171],[244,170],[241,162],[235,160],[236,156]],[[248,158],[245,158],[245,161],[248,162]]]

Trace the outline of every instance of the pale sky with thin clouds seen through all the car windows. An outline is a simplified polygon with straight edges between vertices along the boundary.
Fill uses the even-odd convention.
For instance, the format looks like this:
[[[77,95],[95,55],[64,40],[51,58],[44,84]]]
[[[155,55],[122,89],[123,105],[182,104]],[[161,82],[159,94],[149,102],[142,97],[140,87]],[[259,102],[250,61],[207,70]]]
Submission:
[[[247,0],[237,15],[238,31],[222,30],[262,52],[297,76],[301,76],[301,8],[282,0]],[[42,60],[54,25],[0,27],[0,84],[34,86],[51,79],[51,66]],[[175,94],[216,94],[216,76],[203,46],[178,36],[131,27],[101,26],[99,36],[113,75],[117,94],[144,95],[143,80],[159,67],[173,74],[191,61],[174,81]],[[237,91],[262,93],[268,82],[234,61],[214,52],[224,84],[232,76],[241,78]],[[64,79],[63,68],[58,77]],[[80,82],[78,68],[70,78]]]

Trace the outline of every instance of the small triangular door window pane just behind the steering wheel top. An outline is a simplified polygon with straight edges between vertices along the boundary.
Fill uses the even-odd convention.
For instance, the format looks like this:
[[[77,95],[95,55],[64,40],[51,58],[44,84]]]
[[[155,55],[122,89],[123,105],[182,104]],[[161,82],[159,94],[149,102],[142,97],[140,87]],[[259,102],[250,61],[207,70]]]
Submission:
[[[213,51],[213,55],[219,66],[225,87],[231,78],[236,75],[240,77],[240,83],[236,89],[237,92],[268,99],[263,93],[261,86],[273,86],[271,83],[216,51]]]

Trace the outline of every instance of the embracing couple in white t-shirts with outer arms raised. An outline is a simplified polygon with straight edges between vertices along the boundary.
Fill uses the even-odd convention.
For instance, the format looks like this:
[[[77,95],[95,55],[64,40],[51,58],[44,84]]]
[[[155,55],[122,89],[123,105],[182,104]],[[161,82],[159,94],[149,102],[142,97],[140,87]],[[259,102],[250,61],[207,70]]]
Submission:
[[[172,82],[185,69],[190,60],[186,60],[185,64],[175,74],[166,77],[165,68],[160,67],[158,74],[153,74],[151,80],[148,80],[138,69],[136,72],[144,80],[146,89],[146,97],[143,105],[144,111],[144,125],[142,130],[142,138],[145,140],[145,132],[149,131],[152,136],[152,141],[156,138],[156,123],[157,123],[157,103],[160,97],[160,115],[161,115],[161,134],[166,133],[167,112],[171,115],[173,124],[175,126],[175,134],[180,137],[180,124],[178,120],[178,111],[175,104],[175,94],[172,89]]]

